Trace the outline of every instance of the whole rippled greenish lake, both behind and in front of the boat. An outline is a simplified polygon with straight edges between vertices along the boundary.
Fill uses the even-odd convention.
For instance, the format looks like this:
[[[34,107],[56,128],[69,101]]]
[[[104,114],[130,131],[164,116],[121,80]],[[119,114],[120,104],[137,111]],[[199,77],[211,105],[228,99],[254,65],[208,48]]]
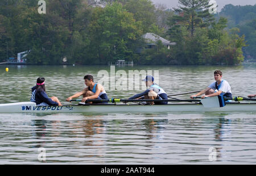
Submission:
[[[48,96],[65,98],[85,87],[83,77],[109,66],[0,66],[1,104],[29,101],[36,78]],[[169,94],[197,91],[220,69],[234,96],[256,93],[254,63],[242,66],[115,67],[159,72]],[[118,79],[118,78],[117,78]],[[123,79],[123,78],[122,78]],[[127,86],[129,84],[127,80]],[[109,86],[108,96],[141,91]],[[176,98],[189,98],[189,95]],[[256,164],[256,113],[0,114],[0,164]]]

